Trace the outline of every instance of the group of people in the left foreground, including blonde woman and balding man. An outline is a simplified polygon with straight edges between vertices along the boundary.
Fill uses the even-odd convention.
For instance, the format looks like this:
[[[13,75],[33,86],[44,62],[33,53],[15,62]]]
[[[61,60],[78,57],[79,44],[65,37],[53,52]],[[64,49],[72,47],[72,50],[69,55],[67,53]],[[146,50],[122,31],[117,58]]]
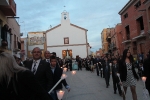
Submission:
[[[41,58],[39,47],[32,50],[33,59],[21,61],[8,52],[0,53],[0,100],[58,100],[57,91],[70,86],[63,79],[51,93],[49,91],[61,79],[63,69],[55,55],[45,51]]]

